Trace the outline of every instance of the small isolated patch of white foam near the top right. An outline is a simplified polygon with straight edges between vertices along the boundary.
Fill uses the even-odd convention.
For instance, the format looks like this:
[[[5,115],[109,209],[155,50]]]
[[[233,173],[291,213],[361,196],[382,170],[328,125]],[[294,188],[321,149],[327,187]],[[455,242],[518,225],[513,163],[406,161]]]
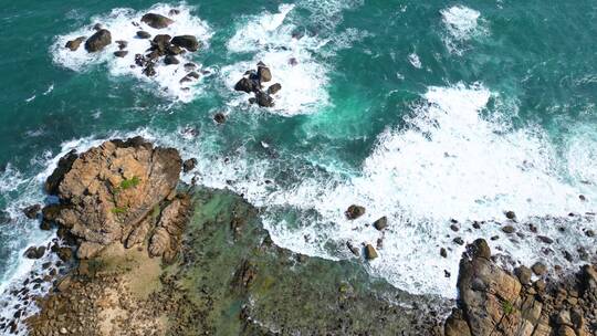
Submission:
[[[464,6],[453,6],[440,11],[448,35],[443,41],[451,53],[462,54],[465,43],[488,30],[481,24],[481,13]]]

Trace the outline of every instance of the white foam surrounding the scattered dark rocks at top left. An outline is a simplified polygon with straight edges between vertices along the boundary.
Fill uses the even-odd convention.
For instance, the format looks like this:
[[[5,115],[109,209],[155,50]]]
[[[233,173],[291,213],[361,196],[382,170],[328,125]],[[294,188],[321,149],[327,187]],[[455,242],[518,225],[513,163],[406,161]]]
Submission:
[[[170,14],[170,10],[178,10],[178,14]],[[130,9],[114,9],[107,15],[93,18],[87,27],[81,28],[74,32],[56,38],[56,41],[51,48],[51,53],[55,63],[72,69],[74,71],[84,72],[97,64],[106,64],[108,72],[113,76],[133,76],[143,83],[145,87],[153,88],[159,95],[189,102],[201,93],[199,81],[180,83],[180,80],[187,74],[185,63],[195,62],[197,53],[202,49],[209,48],[209,39],[212,32],[209,25],[201,19],[191,13],[192,8],[187,6],[168,6],[156,4],[148,10],[133,11]],[[175,22],[165,29],[153,29],[149,25],[140,22],[144,13],[154,12],[170,17]],[[104,28],[112,33],[112,44],[105,50],[97,53],[87,53],[84,45],[81,45],[77,51],[72,52],[64,48],[67,41],[77,36],[91,36],[94,33],[93,24],[102,23]],[[139,23],[135,27],[133,22]],[[144,75],[143,69],[139,66],[132,67],[135,64],[135,54],[145,54],[149,49],[149,40],[136,38],[136,32],[144,30],[155,36],[156,34],[169,34],[171,36],[190,34],[203,43],[198,52],[186,53],[177,56],[180,61],[177,65],[165,65],[158,62],[156,65],[156,75],[147,77]],[[118,50],[116,41],[127,41],[126,50],[128,54],[124,57],[114,56],[114,52]],[[201,64],[197,72],[201,72]],[[199,82],[199,83],[198,83]]]

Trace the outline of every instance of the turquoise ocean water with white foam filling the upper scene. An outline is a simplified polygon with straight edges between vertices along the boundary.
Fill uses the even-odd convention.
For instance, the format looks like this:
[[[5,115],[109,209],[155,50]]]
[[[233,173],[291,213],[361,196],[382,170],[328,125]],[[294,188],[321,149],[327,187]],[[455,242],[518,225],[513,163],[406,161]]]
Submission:
[[[137,134],[196,157],[186,181],[263,207],[279,245],[343,260],[346,241],[383,238],[363,263],[410,293],[455,297],[443,270],[458,273],[457,235],[500,235],[492,248],[527,265],[572,269],[582,261],[562,250],[595,253],[584,234],[597,230],[595,1],[2,2],[0,291],[43,262],[22,252],[54,233],[21,209],[49,201],[41,186],[57,158]],[[151,78],[129,66],[146,49],[132,21],[171,9],[165,32],[203,42],[185,55],[202,71],[191,83],[179,83],[185,62]],[[96,55],[63,48],[96,22],[129,41],[126,57],[114,43]],[[259,61],[282,84],[269,109],[232,90]],[[353,203],[367,210],[348,221]],[[505,223],[507,210],[554,238],[554,254],[496,223],[470,229]],[[385,233],[370,225],[383,216]]]

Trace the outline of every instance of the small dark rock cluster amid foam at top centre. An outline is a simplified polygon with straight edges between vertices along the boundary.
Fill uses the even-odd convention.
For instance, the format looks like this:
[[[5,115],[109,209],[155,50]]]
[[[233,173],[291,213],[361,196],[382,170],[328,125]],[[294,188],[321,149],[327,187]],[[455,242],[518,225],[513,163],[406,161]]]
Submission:
[[[244,73],[244,76],[234,85],[235,91],[244,93],[253,93],[254,97],[249,98],[249,103],[256,103],[261,107],[273,107],[274,99],[272,95],[282,90],[280,83],[270,85],[263,90],[263,83],[272,81],[272,73],[263,62],[258,63],[256,71],[250,70]]]

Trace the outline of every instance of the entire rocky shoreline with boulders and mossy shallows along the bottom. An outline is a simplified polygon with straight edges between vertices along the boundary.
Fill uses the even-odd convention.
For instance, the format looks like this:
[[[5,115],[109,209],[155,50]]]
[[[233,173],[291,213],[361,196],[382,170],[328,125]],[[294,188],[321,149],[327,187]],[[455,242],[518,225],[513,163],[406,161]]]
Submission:
[[[50,253],[56,262],[15,291],[39,311],[17,309],[0,321],[0,330],[14,334],[24,324],[31,335],[597,332],[597,270],[590,264],[577,274],[547,272],[541,263],[510,271],[475,240],[462,255],[450,313],[453,302],[396,290],[371,279],[360,260],[332,262],[276,246],[259,209],[239,196],[179,181],[195,164],[140,137],[63,157],[44,186],[56,201],[24,209],[40,218],[41,229],[57,227],[51,245],[31,246],[25,258]],[[346,217],[364,212],[352,206]],[[385,218],[374,224],[387,225]],[[364,252],[377,255],[373,245]],[[33,282],[48,284],[50,293],[30,294]]]

